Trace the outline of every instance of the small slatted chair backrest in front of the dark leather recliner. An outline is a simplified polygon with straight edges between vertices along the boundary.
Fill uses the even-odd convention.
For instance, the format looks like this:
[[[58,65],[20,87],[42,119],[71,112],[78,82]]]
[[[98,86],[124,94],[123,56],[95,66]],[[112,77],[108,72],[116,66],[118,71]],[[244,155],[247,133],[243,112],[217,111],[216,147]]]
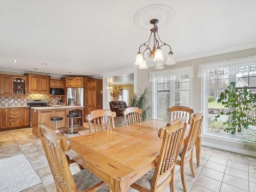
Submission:
[[[141,113],[142,113],[142,110],[137,107],[126,108],[123,111],[125,125],[128,126],[131,124],[141,122]]]

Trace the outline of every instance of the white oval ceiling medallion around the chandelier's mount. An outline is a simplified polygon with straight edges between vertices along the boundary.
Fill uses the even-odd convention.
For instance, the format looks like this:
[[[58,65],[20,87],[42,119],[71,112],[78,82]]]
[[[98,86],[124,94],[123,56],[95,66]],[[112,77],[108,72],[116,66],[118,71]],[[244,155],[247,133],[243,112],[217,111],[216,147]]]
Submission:
[[[141,8],[134,15],[134,23],[143,29],[151,27],[150,20],[157,18],[158,26],[162,27],[172,21],[176,12],[173,7],[165,4],[153,4]]]

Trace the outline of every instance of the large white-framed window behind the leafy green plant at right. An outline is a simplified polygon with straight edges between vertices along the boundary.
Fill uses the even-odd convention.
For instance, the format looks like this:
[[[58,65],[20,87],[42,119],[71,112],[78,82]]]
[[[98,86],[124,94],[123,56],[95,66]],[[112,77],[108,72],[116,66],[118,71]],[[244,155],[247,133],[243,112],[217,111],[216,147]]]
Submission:
[[[223,92],[230,82],[236,82],[237,88],[247,86],[249,91],[256,93],[256,57],[246,57],[206,63],[199,66],[199,77],[202,79],[202,109],[204,111],[204,133],[222,135],[226,137],[241,137],[244,133],[231,135],[224,130],[228,125],[223,125],[231,117],[220,115],[218,121],[214,121],[216,115],[225,108],[218,103],[220,93]],[[251,127],[255,129],[255,127]]]

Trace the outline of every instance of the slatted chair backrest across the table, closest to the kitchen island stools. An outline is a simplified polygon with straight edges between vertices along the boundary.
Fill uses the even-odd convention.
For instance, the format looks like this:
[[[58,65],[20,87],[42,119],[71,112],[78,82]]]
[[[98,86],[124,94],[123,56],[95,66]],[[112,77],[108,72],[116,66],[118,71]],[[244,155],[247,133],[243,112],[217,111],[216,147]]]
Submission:
[[[90,133],[115,129],[114,117],[116,112],[111,110],[95,110],[86,116]],[[94,125],[94,126],[93,126]]]

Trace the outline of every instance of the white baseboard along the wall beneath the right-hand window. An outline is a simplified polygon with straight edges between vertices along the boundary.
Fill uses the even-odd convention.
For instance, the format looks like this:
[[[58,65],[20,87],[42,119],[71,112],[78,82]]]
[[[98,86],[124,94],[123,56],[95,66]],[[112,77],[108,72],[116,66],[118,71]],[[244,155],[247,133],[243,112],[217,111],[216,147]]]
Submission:
[[[240,154],[256,157],[256,153],[255,152],[249,151],[249,150],[243,150],[242,148],[235,148],[235,147],[230,147],[230,146],[226,146],[226,145],[220,145],[220,144],[210,143],[210,142],[205,142],[205,141],[202,141],[202,145],[210,146],[210,147],[214,147],[214,148],[219,148],[221,150],[226,150],[226,151],[230,151],[230,152],[235,152],[235,153],[240,153]]]

